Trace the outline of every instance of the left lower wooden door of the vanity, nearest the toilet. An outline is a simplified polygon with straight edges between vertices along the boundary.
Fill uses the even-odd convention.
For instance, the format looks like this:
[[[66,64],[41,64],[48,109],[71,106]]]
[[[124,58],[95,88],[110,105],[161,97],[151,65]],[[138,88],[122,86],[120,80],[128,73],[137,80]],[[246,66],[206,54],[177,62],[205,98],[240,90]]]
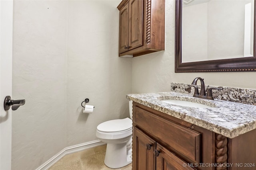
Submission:
[[[134,127],[132,138],[132,170],[154,170],[156,142]]]

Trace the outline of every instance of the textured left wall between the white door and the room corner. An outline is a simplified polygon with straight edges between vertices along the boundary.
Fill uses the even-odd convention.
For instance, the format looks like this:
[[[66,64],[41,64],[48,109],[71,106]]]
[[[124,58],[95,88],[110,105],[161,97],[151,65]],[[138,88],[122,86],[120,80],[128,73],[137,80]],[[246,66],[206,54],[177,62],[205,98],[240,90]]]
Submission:
[[[32,170],[67,146],[67,3],[14,1],[12,170]]]

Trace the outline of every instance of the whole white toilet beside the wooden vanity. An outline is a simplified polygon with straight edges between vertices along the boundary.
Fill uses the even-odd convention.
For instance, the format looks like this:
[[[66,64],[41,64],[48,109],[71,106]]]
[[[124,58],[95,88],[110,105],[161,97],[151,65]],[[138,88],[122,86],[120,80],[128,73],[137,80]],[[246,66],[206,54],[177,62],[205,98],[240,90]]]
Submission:
[[[132,101],[130,118],[105,121],[97,126],[96,137],[107,143],[104,163],[109,168],[121,168],[132,163]]]

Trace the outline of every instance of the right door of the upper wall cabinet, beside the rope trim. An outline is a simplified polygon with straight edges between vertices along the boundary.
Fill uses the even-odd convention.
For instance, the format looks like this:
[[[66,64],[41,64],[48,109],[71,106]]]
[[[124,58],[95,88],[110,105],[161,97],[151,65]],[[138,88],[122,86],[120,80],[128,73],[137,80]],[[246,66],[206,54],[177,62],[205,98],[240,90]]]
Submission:
[[[130,0],[129,50],[142,46],[142,3],[143,0]]]

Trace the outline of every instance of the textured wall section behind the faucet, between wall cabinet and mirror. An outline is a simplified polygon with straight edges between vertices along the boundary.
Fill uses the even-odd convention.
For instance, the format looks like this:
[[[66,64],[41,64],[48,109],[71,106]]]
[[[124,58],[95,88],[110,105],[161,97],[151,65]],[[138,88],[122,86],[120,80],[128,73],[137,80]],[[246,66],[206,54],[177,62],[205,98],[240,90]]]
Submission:
[[[192,83],[202,77],[206,85],[256,89],[256,72],[175,73],[175,1],[166,0],[165,51],[132,59],[132,92],[170,91],[171,82]]]

